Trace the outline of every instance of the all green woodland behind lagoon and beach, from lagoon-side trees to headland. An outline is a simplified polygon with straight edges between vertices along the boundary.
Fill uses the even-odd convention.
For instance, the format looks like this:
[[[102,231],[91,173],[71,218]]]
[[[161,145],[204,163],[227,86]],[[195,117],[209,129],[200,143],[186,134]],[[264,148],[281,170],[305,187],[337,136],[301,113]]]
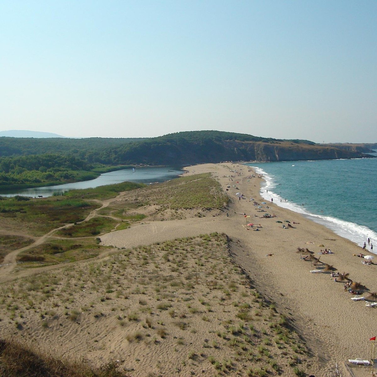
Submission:
[[[220,131],[178,132],[146,139],[0,137],[0,187],[93,179],[125,164],[295,161],[362,157],[361,152],[365,150]]]

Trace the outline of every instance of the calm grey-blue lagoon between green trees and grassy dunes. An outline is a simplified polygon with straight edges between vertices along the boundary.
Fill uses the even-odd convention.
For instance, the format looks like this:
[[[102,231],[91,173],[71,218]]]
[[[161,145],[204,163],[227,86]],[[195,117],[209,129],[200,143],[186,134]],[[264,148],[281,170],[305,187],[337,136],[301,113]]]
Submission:
[[[114,172],[103,173],[95,179],[90,181],[66,183],[56,186],[44,186],[35,187],[33,189],[14,190],[11,193],[0,194],[1,196],[31,196],[37,197],[42,195],[43,197],[52,196],[54,193],[63,193],[69,190],[76,189],[89,189],[98,186],[112,185],[121,182],[138,182],[138,183],[153,183],[153,182],[165,182],[169,179],[173,179],[182,174],[182,170],[177,167],[142,167],[136,168],[135,173],[132,169],[116,170]]]

